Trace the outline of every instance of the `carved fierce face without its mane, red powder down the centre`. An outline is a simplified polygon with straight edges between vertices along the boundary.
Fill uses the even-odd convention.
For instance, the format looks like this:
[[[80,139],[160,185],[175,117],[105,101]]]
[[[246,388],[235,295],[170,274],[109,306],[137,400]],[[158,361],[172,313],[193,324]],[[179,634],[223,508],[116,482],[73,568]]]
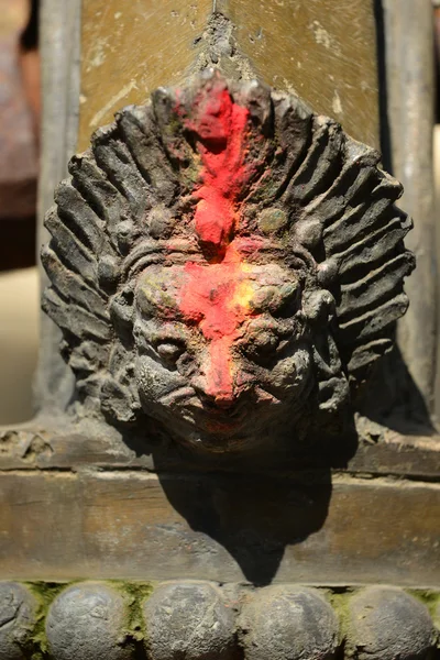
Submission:
[[[312,384],[300,282],[231,248],[218,264],[151,266],[135,292],[143,408],[217,451],[292,427]]]

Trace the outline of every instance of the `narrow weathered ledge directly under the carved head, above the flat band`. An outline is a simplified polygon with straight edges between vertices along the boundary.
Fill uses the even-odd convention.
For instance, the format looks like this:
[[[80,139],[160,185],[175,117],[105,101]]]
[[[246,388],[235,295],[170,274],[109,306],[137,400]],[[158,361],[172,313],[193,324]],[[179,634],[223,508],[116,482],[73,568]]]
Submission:
[[[402,436],[381,427],[372,428],[369,424],[358,427],[361,444],[349,463],[351,474],[374,473],[376,475],[402,475],[403,473],[419,480],[436,479],[440,473],[440,437],[439,436]],[[205,464],[195,464],[190,457],[184,461],[177,448],[163,449],[161,466],[167,470],[191,469],[202,472]],[[265,466],[265,474],[278,474],[277,462],[260,463]],[[86,436],[70,430],[63,420],[62,429],[47,429],[30,424],[20,430],[0,431],[0,469],[1,470],[55,470],[80,466],[94,466],[99,470],[141,469],[154,470],[152,455],[136,452],[124,444],[120,438],[110,433]],[[234,472],[253,465],[244,458],[235,460],[231,470]],[[287,466],[285,466],[287,469]],[[226,466],[224,466],[226,469]],[[287,470],[286,470],[287,473]],[[295,473],[295,468],[293,469]]]

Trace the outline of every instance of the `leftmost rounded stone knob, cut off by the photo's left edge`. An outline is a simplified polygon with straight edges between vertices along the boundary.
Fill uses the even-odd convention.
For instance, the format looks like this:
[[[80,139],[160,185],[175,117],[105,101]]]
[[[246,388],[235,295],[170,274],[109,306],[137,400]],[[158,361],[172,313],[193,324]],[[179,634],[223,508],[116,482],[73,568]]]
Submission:
[[[0,582],[0,660],[25,658],[24,645],[36,623],[37,603],[15,582]]]

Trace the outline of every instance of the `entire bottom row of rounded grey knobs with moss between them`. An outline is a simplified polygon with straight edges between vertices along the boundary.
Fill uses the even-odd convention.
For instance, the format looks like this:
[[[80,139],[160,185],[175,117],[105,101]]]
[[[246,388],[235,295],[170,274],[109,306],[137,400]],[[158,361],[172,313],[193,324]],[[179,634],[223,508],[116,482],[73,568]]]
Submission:
[[[439,613],[440,593],[382,585],[2,582],[0,660],[421,660]]]

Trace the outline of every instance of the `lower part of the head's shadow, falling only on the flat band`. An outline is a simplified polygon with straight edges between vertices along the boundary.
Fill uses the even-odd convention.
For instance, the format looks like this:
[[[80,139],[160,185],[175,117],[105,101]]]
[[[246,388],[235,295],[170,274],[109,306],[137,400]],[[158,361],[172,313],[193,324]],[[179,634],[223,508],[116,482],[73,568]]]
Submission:
[[[286,546],[322,527],[331,497],[330,471],[305,475],[307,485],[237,474],[160,480],[191,529],[221,543],[258,586],[272,582]]]

